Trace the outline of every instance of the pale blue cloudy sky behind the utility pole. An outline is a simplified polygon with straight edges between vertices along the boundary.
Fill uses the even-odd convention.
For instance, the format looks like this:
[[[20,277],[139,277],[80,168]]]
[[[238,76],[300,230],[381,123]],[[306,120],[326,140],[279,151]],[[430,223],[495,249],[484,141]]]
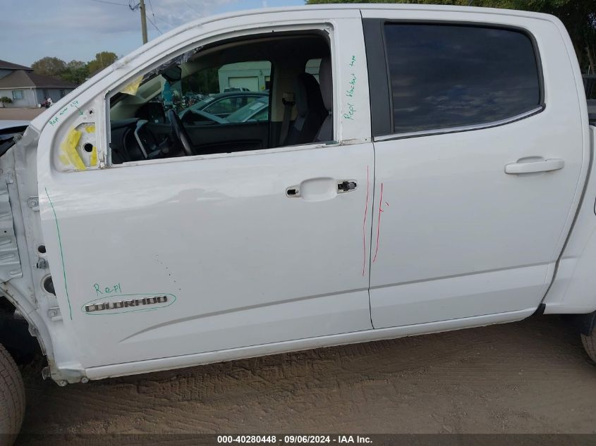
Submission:
[[[138,1],[130,0],[136,4]],[[109,3],[107,3],[109,2]],[[303,0],[145,0],[162,32],[195,18]],[[152,7],[151,7],[152,6]],[[159,35],[147,23],[149,39]],[[124,56],[141,44],[140,15],[128,0],[0,0],[0,59],[22,65],[44,56],[90,61],[99,51]]]

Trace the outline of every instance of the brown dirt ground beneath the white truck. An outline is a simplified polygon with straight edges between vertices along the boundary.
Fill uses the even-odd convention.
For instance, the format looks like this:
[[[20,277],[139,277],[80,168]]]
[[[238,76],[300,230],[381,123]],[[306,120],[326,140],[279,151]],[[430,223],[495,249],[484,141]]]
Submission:
[[[41,366],[23,433],[596,433],[596,366],[557,316],[66,388]]]

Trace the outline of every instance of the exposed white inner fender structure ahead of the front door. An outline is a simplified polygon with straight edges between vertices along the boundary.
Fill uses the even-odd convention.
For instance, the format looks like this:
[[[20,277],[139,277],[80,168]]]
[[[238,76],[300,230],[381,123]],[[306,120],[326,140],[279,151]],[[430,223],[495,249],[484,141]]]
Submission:
[[[13,307],[15,321],[28,323],[49,366],[44,378],[59,383],[86,381],[80,364],[68,361],[68,354],[55,352],[54,345],[66,336],[49,271],[49,261],[39,218],[37,193],[37,148],[40,131],[35,125],[0,121],[0,299],[3,308]],[[10,304],[10,306],[8,305]],[[10,330],[10,327],[8,327]],[[4,330],[5,332],[8,330]],[[14,331],[16,333],[16,331]],[[13,333],[13,337],[14,337]],[[20,340],[27,345],[30,340]],[[2,339],[0,339],[2,342]],[[61,363],[56,367],[56,353]],[[66,372],[66,373],[65,373]]]

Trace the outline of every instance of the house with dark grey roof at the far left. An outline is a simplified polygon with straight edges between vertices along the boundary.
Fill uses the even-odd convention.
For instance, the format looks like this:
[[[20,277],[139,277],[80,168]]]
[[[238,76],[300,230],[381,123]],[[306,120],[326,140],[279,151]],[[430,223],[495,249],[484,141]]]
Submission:
[[[0,60],[0,97],[12,99],[13,107],[36,107],[51,97],[58,101],[77,85],[33,73],[32,68]]]

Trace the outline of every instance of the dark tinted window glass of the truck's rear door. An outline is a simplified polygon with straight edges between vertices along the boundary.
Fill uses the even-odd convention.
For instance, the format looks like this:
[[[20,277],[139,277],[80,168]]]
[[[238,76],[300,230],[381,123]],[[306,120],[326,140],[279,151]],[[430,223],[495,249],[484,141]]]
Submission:
[[[522,32],[458,25],[385,25],[394,131],[511,118],[540,104],[533,44]]]

